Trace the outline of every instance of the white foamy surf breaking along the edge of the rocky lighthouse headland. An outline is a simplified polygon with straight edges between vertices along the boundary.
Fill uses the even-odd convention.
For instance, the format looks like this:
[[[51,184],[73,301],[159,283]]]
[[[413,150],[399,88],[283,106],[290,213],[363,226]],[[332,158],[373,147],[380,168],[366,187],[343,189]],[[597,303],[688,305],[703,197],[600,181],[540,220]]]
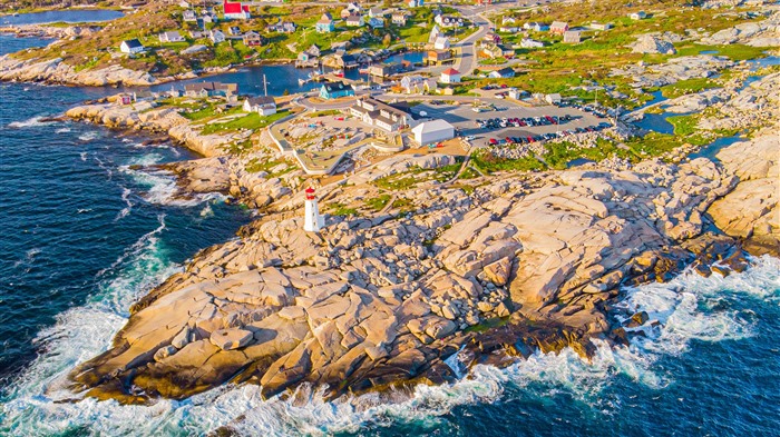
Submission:
[[[749,315],[722,309],[718,305],[721,299],[754,297],[776,302],[780,298],[777,259],[754,259],[748,271],[727,278],[702,278],[686,271],[669,284],[626,290],[624,305],[646,310],[661,321],[654,336],[635,339],[628,347],[612,348],[595,341],[596,355],[591,362],[567,349],[559,355],[537,352],[505,369],[477,366],[455,384],[418,386],[411,397],[396,396],[394,401],[388,401],[392,394],[325,401],[321,391],[306,387],[299,388],[296,396],[263,400],[259,387],[246,385],[223,386],[184,401],[159,400],[152,406],[121,406],[91,398],[55,403],[72,397],[56,389],[61,377],[77,362],[106,350],[126,321],[127,305],[175,269],[159,254],[159,231],[128,249],[127,258],[118,260],[121,272],[101,286],[89,304],[66,311],[57,326],[41,332],[45,351],[10,387],[0,431],[19,436],[68,431],[178,436],[205,435],[230,425],[246,436],[324,436],[412,423],[436,428],[441,417],[458,406],[494,403],[516,390],[533,393],[539,401],[566,393],[595,414],[611,414],[615,407],[602,394],[615,377],[663,390],[674,376],[656,368],[661,357],[684,354],[693,340],[716,342],[753,335],[754,321]]]

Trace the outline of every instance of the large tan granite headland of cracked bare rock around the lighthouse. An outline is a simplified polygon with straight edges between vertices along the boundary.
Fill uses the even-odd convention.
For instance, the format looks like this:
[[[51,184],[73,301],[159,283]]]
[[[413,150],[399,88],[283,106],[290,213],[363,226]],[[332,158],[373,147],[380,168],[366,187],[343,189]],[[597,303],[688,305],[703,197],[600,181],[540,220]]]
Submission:
[[[227,381],[338,396],[448,381],[536,349],[587,357],[591,338],[624,342],[653,324],[616,312],[621,285],[742,270],[743,244],[777,256],[779,146],[766,132],[720,162],[494,176],[470,195],[418,187],[404,191],[413,213],[330,217],[321,234],[302,230],[296,198],[136,302],[74,388],[126,403]],[[325,195],[359,196],[374,193]]]

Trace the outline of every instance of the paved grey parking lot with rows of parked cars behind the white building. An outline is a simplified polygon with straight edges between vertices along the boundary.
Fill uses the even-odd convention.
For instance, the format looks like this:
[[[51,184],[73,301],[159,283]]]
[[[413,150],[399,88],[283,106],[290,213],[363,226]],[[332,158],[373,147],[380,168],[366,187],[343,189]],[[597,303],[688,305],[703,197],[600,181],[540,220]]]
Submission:
[[[490,139],[501,141],[507,137],[526,139],[532,137],[537,140],[549,139],[550,135],[593,129],[599,123],[607,122],[606,119],[576,108],[559,108],[555,106],[527,108],[505,100],[491,101],[498,110],[476,112],[474,110],[476,101],[477,99],[475,101],[461,100],[459,102],[443,100],[439,105],[426,101],[415,106],[412,112],[416,116],[420,116],[423,112],[426,117],[447,120],[455,126],[461,136],[475,137],[470,141],[474,146],[488,146],[490,145]],[[507,119],[507,121],[505,122],[504,119]],[[521,123],[510,122],[511,119],[524,121]],[[538,122],[529,123],[528,120],[538,120]],[[544,138],[545,136],[547,138]]]

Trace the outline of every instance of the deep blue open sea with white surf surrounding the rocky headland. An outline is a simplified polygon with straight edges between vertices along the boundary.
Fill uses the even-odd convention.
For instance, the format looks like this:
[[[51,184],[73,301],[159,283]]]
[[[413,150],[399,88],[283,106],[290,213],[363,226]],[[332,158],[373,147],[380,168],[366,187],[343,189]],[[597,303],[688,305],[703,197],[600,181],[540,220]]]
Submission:
[[[0,37],[3,52],[36,43]],[[226,424],[262,436],[780,435],[770,258],[728,278],[626,289],[622,305],[662,328],[631,347],[599,344],[591,362],[536,355],[396,403],[305,390],[263,400],[255,386],[152,406],[61,403],[74,396],[62,377],[106,350],[135,299],[250,220],[218,196],[173,200],[173,179],[128,168],[192,157],[181,148],[41,119],[105,92],[0,83],[0,435],[202,436]]]

